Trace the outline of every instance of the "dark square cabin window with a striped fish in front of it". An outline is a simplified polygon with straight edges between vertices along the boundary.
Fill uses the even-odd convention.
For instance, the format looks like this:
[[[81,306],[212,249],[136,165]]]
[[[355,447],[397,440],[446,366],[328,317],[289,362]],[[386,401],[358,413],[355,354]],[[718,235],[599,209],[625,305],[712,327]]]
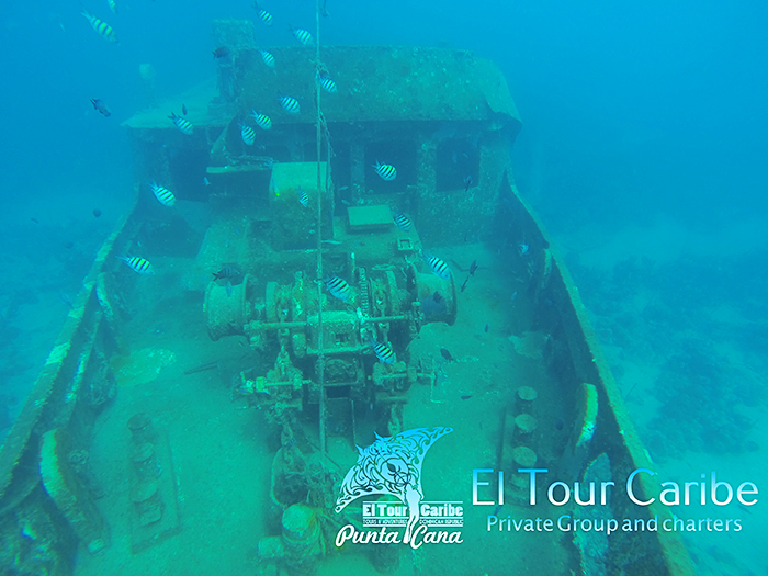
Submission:
[[[365,190],[374,194],[405,192],[416,184],[416,144],[413,142],[377,142],[365,146]],[[394,180],[376,173],[376,162],[392,165],[397,170]]]

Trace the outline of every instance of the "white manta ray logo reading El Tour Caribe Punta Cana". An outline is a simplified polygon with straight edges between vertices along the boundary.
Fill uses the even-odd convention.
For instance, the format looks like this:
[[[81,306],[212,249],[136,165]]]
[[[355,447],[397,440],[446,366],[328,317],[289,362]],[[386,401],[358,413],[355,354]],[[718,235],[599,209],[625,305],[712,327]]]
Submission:
[[[427,526],[461,527],[462,502],[423,501],[421,490],[421,465],[427,451],[438,439],[452,431],[452,428],[445,427],[415,428],[391,438],[376,434],[376,441],[370,447],[358,447],[358,462],[341,483],[336,512],[341,512],[348,504],[363,496],[393,496],[400,504],[363,502],[363,526],[381,527],[382,542],[388,543],[399,542],[399,539],[395,532],[386,534],[387,527],[405,526],[403,542],[411,545],[417,532],[426,532]],[[417,529],[419,520],[421,522]],[[343,527],[337,537],[337,545],[352,539],[353,533],[353,527]],[[461,533],[453,534],[452,542],[461,542]],[[428,539],[423,541],[428,542]],[[448,542],[448,537],[443,541]]]

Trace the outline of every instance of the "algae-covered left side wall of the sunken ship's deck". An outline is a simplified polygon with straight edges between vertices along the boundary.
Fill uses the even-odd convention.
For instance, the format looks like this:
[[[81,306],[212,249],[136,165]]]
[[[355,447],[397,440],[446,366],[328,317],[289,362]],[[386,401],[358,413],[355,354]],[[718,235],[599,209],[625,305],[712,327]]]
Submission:
[[[49,574],[70,574],[78,539],[93,552],[109,542],[109,527],[103,524],[93,504],[100,488],[89,486],[87,479],[78,476],[68,458],[69,452],[82,453],[89,445],[95,418],[115,392],[106,358],[116,352],[118,336],[104,321],[95,286],[103,270],[116,268],[115,257],[124,253],[138,222],[131,211],[102,245],[20,416],[0,448],[0,524],[11,526],[11,519],[22,513],[29,519],[30,535],[23,529],[15,532],[15,538],[45,547],[44,555],[21,553],[11,558],[13,569],[41,566],[39,558],[44,556],[43,565],[48,566]],[[63,452],[63,443],[70,448]],[[41,475],[43,472],[50,492],[39,488],[41,478],[45,477]],[[50,513],[52,501],[60,515]],[[11,542],[12,539],[7,541],[8,550],[15,546]],[[52,544],[56,542],[61,545]],[[27,561],[32,563],[29,566]],[[7,567],[10,569],[10,565],[0,569]]]

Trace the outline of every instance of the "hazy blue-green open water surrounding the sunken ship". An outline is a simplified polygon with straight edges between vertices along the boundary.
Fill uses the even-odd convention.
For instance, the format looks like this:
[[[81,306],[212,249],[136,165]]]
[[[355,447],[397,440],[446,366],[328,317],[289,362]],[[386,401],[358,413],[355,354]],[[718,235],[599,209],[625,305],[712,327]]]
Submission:
[[[522,194],[565,253],[629,409],[669,477],[766,467],[768,9],[758,2],[329,0],[324,43],[447,45],[504,70],[523,121]],[[210,78],[211,20],[247,1],[105,1],[100,38],[77,2],[0,8],[0,427],[19,413],[95,250],[133,194],[120,123]],[[263,45],[314,25],[307,1],[264,4]],[[460,81],[461,79],[456,79]],[[103,117],[90,98],[108,102]],[[93,210],[101,211],[95,217]],[[33,219],[34,218],[34,219]],[[713,511],[713,515],[716,510]],[[760,505],[737,534],[694,533],[702,574],[765,573]]]

